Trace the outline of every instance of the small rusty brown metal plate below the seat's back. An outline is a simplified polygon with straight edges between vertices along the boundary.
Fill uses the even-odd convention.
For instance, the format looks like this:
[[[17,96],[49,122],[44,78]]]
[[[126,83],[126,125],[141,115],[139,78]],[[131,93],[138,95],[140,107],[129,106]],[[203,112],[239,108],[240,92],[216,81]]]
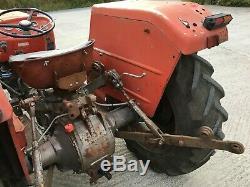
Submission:
[[[86,80],[86,71],[82,71],[66,77],[59,78],[57,80],[57,87],[62,90],[73,91],[79,89],[82,85],[84,85],[84,82]]]

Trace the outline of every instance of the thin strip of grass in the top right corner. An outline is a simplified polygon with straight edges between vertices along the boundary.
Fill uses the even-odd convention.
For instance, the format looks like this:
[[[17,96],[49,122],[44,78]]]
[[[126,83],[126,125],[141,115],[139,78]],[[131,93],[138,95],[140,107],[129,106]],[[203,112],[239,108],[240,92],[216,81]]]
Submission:
[[[250,0],[193,0],[193,1],[200,4],[250,7]]]

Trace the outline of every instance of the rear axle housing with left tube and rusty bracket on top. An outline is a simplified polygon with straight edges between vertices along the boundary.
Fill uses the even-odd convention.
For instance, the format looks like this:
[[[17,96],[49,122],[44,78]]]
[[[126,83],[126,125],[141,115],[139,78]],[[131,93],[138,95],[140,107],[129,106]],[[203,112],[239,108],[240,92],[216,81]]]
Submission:
[[[113,129],[116,123],[114,122],[114,126],[108,124],[96,110],[95,101],[96,97],[93,95],[64,101],[65,108],[75,116],[61,119],[55,126],[54,135],[40,145],[44,167],[57,165],[59,170],[88,173],[92,182],[108,175],[100,175],[100,163],[114,153]],[[131,111],[129,108],[127,110]],[[65,126],[69,123],[72,129],[65,131]],[[117,123],[123,124],[124,121]]]

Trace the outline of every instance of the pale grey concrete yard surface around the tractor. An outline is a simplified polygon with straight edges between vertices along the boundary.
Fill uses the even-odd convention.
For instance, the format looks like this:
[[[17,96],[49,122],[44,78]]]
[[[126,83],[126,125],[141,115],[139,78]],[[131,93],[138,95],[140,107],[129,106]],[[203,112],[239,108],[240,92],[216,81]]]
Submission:
[[[250,9],[210,6],[214,12],[228,12],[234,17],[229,26],[230,41],[200,53],[215,68],[214,78],[223,85],[226,97],[223,106],[229,113],[224,124],[226,139],[245,144],[243,155],[223,151],[217,153],[202,168],[178,177],[168,177],[151,170],[145,177],[138,173],[113,173],[113,179],[101,179],[94,186],[250,186]],[[56,38],[59,48],[66,48],[88,38],[90,9],[53,12],[56,18]],[[108,28],[104,28],[108,29]],[[134,158],[124,142],[116,143],[116,155]],[[89,186],[87,175],[56,172],[53,186]]]

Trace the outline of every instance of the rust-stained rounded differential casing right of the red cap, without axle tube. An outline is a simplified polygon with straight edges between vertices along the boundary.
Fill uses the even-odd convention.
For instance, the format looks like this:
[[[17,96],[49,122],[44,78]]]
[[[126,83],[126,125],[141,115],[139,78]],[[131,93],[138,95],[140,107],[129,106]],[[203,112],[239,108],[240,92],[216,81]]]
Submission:
[[[82,171],[100,164],[100,161],[112,155],[115,141],[111,129],[103,124],[96,115],[88,117],[88,123],[75,122],[73,141],[81,160]]]

